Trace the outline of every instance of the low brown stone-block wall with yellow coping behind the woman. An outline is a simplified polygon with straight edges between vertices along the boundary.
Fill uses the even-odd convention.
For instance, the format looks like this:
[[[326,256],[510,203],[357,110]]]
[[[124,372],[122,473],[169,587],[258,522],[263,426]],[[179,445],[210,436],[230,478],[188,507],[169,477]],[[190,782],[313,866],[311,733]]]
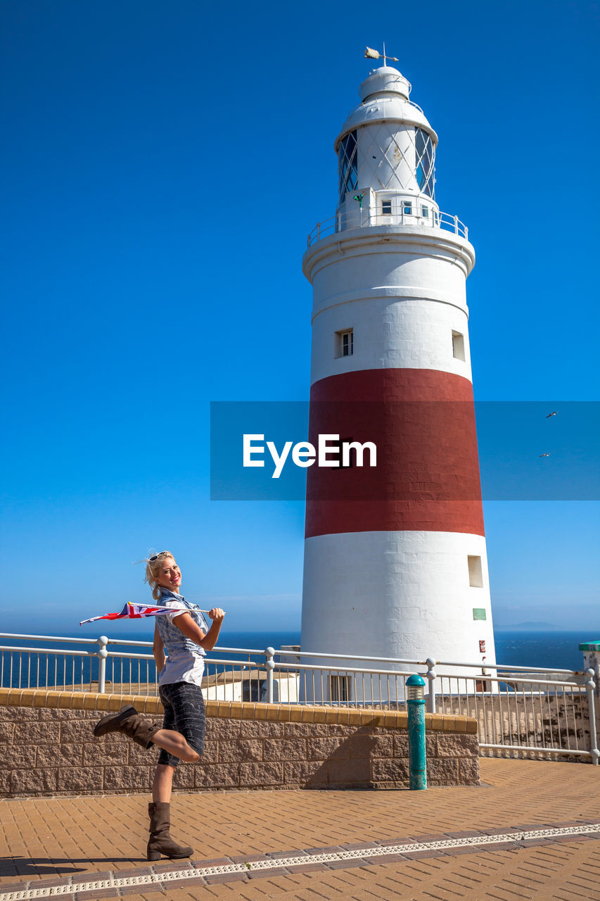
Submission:
[[[0,689],[0,796],[147,792],[158,749],[93,724],[127,703],[160,722],[156,698]],[[180,764],[183,791],[408,786],[407,716],[336,707],[206,702],[203,760]],[[426,714],[430,786],[477,785],[477,724]]]

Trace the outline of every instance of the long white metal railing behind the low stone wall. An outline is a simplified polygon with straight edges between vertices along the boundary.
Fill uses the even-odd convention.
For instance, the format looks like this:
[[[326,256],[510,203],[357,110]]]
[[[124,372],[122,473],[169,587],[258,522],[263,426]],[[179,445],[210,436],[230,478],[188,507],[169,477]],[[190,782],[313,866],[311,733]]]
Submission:
[[[0,688],[158,695],[151,642],[14,633],[0,633],[0,642]],[[427,679],[430,713],[477,720],[483,753],[598,762],[594,669],[217,647],[206,658],[203,690],[242,704],[398,710],[413,673]]]

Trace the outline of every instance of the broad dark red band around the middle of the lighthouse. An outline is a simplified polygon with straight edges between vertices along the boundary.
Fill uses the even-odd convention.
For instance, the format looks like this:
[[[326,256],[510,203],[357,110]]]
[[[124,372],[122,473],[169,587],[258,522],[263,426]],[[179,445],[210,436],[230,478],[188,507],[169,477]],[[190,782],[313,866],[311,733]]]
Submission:
[[[308,469],[306,537],[338,532],[484,534],[473,388],[434,369],[364,369],[311,390],[309,440],[372,441],[377,466]]]

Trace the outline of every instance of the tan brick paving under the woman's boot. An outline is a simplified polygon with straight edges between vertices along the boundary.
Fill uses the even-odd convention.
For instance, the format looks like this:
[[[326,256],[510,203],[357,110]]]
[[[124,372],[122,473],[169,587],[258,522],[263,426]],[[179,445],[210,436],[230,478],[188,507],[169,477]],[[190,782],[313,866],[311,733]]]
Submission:
[[[481,787],[405,790],[214,792],[174,796],[173,833],[191,860],[144,860],[143,796],[0,801],[0,897],[70,886],[68,901],[127,896],[149,901],[600,901],[600,841],[588,831],[522,842],[526,830],[600,823],[600,768],[481,759]],[[441,838],[502,835],[502,843],[368,855],[368,849]],[[505,837],[505,838],[504,838]],[[327,851],[359,859],[311,862]],[[290,855],[306,857],[285,868]],[[169,871],[272,860],[268,872],[168,880]],[[152,885],[94,887],[149,876]],[[164,881],[160,882],[160,878]],[[77,883],[77,885],[76,885]],[[25,895],[26,897],[27,895]],[[52,896],[52,895],[50,895]]]

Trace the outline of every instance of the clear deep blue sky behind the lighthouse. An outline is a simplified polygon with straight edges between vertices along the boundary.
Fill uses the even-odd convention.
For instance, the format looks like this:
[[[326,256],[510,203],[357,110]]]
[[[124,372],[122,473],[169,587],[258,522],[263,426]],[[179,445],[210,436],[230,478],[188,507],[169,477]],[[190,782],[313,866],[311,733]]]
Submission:
[[[131,562],[150,547],[232,630],[298,627],[304,505],[210,500],[209,404],[308,396],[300,261],[334,212],[366,44],[400,58],[440,137],[437,199],[476,248],[477,400],[598,397],[597,3],[5,0],[0,16],[12,628],[145,599]],[[485,516],[495,622],[597,632],[597,501]]]

